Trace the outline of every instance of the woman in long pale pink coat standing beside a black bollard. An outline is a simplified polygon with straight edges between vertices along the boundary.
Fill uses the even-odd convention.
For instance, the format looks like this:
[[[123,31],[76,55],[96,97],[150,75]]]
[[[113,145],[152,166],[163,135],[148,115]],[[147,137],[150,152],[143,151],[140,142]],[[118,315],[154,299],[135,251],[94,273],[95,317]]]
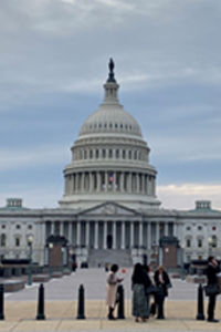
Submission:
[[[117,283],[122,282],[123,279],[118,279],[116,272],[118,271],[118,266],[113,264],[107,274],[107,295],[106,305],[108,307],[108,320],[115,320],[114,308],[116,302]]]

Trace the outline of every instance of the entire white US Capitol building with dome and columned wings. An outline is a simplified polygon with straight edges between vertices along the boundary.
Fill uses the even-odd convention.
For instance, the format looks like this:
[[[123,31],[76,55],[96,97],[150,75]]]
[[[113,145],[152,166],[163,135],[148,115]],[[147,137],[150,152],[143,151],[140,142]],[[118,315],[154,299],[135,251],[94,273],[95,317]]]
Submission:
[[[78,266],[129,266],[156,257],[179,266],[206,259],[210,250],[221,258],[221,212],[209,200],[186,211],[160,208],[150,148],[119,104],[118,89],[110,59],[104,101],[71,147],[60,207],[30,209],[20,198],[7,199],[0,208],[1,260],[28,258],[30,236],[40,266],[49,264],[50,241],[57,238],[62,261],[71,252]]]

